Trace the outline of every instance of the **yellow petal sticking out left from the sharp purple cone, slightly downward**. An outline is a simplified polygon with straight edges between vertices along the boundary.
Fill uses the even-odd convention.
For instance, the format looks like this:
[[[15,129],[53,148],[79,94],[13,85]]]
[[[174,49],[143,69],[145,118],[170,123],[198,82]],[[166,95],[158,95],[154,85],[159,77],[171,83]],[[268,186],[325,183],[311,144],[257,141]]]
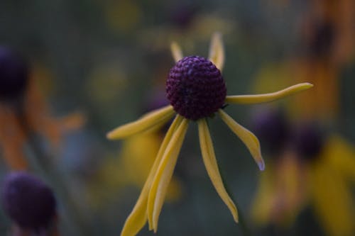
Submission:
[[[143,132],[155,125],[168,122],[168,120],[174,116],[174,113],[175,111],[173,106],[170,105],[155,111],[151,111],[145,116],[142,116],[142,118],[139,120],[133,121],[126,125],[121,125],[118,128],[112,130],[107,134],[107,138],[110,140],[116,140]]]

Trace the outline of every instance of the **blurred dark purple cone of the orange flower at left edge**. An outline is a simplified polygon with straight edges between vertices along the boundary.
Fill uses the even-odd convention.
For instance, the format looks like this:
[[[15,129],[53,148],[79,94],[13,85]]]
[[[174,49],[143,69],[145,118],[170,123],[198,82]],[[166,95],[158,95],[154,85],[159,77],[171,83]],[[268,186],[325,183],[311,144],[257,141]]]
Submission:
[[[28,64],[6,47],[0,46],[0,101],[21,96],[28,84]]]

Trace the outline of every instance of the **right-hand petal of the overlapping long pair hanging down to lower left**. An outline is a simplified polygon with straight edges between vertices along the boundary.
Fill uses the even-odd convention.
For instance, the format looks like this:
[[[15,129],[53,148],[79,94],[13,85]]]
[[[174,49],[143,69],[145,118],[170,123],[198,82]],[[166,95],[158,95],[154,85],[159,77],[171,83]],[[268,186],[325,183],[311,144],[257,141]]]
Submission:
[[[161,208],[163,207],[165,194],[175,168],[178,154],[187,131],[188,120],[183,118],[168,143],[159,167],[155,173],[151,190],[148,195],[148,223],[149,228],[156,232]]]

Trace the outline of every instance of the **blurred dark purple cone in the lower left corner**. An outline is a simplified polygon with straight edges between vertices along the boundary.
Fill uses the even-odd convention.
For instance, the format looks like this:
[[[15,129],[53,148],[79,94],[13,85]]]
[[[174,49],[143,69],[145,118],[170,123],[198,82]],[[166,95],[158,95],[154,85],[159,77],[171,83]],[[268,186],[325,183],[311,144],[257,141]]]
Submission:
[[[24,229],[48,227],[56,215],[53,191],[26,172],[11,172],[6,176],[1,201],[7,215]]]

